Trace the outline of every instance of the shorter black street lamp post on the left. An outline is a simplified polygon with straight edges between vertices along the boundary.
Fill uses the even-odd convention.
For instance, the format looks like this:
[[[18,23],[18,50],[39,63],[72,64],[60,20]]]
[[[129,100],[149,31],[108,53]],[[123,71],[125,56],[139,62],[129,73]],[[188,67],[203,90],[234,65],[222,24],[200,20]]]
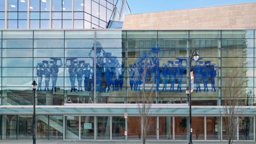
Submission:
[[[36,144],[36,88],[37,84],[34,80],[32,83],[33,89],[33,144]]]

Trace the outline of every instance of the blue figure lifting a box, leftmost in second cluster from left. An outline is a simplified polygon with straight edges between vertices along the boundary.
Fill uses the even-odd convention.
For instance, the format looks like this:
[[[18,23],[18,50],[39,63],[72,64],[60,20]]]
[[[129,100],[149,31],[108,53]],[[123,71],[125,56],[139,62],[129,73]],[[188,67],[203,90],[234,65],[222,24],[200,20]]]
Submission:
[[[70,61],[69,65],[67,64],[68,61]],[[66,62],[65,62],[65,66],[68,67],[68,72],[69,72],[69,78],[70,78],[70,83],[71,83],[70,92],[72,92],[73,90],[75,92],[76,91],[75,82],[76,82],[77,58],[67,58]]]

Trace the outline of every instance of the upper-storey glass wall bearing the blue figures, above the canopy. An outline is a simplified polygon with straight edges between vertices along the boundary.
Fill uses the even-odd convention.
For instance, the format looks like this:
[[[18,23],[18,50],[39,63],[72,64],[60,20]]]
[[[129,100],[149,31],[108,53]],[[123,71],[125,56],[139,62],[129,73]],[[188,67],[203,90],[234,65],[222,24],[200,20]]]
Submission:
[[[243,80],[241,102],[255,103],[254,30],[0,32],[2,105],[32,105],[34,79],[38,105],[136,103],[145,68],[154,103],[186,103],[188,56],[195,48],[193,105],[221,105],[232,71]]]

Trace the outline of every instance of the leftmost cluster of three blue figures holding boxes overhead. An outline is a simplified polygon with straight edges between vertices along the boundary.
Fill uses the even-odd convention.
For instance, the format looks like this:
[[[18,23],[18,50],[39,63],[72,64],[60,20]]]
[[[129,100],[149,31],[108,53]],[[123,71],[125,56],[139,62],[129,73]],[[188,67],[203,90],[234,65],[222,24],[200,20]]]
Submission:
[[[59,62],[59,64],[57,64]],[[42,63],[36,65],[36,75],[38,76],[37,91],[42,91],[42,80],[45,77],[44,91],[49,92],[49,82],[52,78],[52,91],[56,92],[56,82],[58,79],[59,68],[62,66],[61,58],[50,58],[50,60],[43,60]]]

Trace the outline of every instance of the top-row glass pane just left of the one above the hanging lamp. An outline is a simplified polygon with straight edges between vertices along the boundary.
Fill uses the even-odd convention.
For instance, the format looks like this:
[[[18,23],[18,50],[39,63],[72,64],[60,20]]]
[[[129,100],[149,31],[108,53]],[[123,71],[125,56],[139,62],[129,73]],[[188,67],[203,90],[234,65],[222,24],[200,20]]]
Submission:
[[[158,38],[188,38],[188,31],[159,30]]]

